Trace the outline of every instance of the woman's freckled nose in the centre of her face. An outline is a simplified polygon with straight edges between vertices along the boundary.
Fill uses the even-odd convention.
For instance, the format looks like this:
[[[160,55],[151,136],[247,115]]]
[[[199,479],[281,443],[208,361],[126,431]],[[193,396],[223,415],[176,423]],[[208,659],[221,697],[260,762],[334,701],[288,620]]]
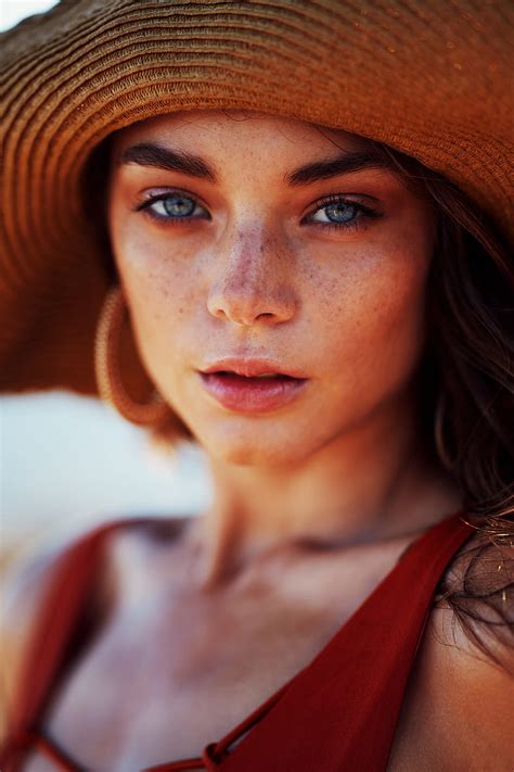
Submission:
[[[207,301],[213,316],[252,326],[288,321],[296,314],[291,254],[277,238],[239,231],[220,245],[214,266]]]

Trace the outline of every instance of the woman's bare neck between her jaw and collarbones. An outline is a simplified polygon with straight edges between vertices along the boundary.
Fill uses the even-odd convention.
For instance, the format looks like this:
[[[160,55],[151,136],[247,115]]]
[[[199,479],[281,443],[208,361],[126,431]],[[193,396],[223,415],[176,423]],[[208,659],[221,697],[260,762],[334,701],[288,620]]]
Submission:
[[[202,586],[292,545],[406,536],[459,509],[458,491],[420,438],[415,402],[403,396],[294,465],[210,457],[215,496],[192,532]]]

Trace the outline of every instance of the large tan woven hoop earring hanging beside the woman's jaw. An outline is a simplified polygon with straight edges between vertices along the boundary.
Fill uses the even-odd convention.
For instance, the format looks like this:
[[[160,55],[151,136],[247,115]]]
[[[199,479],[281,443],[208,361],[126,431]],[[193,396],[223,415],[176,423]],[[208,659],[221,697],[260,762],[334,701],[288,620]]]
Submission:
[[[119,337],[127,311],[121,288],[107,292],[100,313],[94,339],[94,370],[101,398],[124,418],[138,426],[152,427],[169,417],[170,409],[154,390],[146,404],[134,402],[124,388],[117,364]]]

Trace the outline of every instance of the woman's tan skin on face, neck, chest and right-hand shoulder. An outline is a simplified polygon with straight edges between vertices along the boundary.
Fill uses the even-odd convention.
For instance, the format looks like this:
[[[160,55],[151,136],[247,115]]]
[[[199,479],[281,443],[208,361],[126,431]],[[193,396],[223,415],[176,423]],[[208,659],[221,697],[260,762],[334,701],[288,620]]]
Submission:
[[[114,608],[48,720],[90,769],[200,755],[320,651],[415,537],[461,507],[421,442],[413,393],[429,204],[384,168],[291,188],[299,166],[363,141],[229,113],[147,121],[113,150],[108,227],[141,358],[205,450],[215,496],[171,542],[113,540]],[[140,143],[202,156],[217,181],[123,163]],[[196,203],[187,222],[141,208],[177,189]],[[351,227],[320,227],[329,193],[345,199],[338,216]],[[163,198],[151,205],[170,218]],[[258,416],[221,407],[197,369],[228,355],[300,368],[307,388]],[[479,731],[462,721],[470,689],[498,707],[503,676],[463,640],[437,643],[445,620],[431,617],[388,769],[484,770],[493,752],[506,771],[501,721],[480,713],[480,723],[478,708]],[[477,750],[484,736],[490,748]],[[47,768],[33,758],[27,769]]]

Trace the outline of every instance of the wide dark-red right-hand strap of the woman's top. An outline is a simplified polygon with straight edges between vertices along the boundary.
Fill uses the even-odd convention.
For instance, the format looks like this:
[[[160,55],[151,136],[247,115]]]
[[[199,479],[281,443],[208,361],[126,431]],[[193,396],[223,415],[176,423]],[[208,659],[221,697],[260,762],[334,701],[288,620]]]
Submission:
[[[383,772],[435,589],[473,533],[458,512],[414,542],[320,655],[215,745],[222,758],[253,725],[223,770]]]

